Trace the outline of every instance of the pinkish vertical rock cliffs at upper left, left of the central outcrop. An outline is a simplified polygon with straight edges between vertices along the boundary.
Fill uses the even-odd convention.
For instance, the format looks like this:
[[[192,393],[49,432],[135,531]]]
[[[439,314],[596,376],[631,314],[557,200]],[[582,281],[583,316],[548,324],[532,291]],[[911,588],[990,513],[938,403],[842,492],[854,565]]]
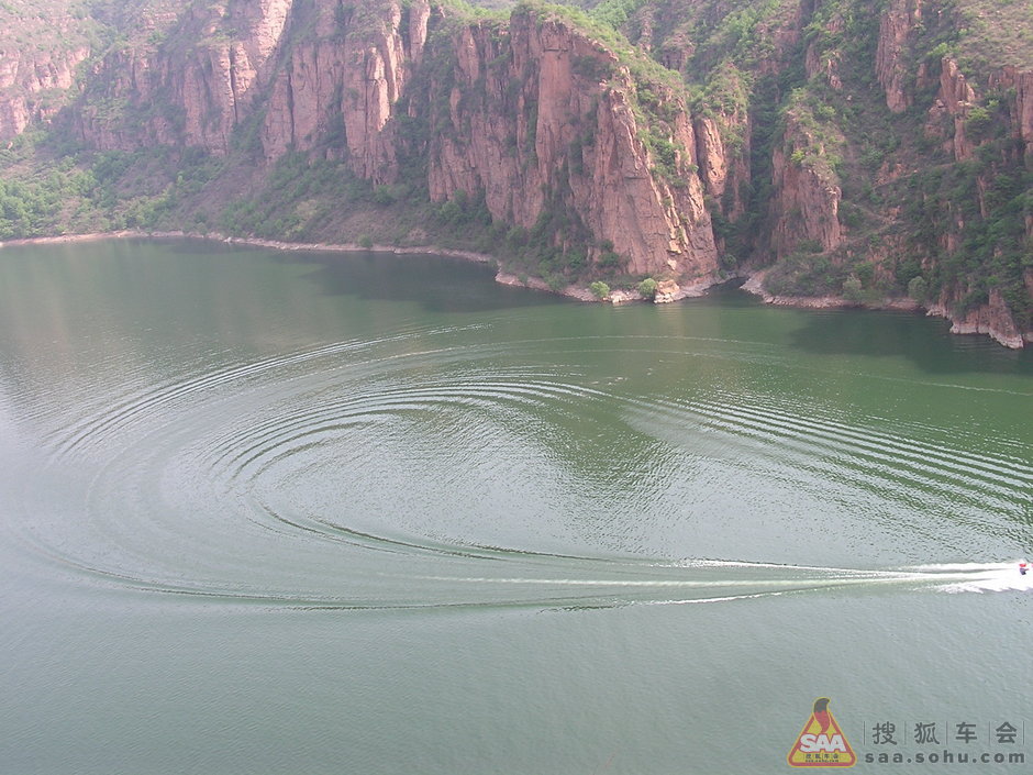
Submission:
[[[398,0],[196,2],[162,20],[157,43],[108,54],[79,130],[104,150],[173,144],[224,155],[260,113],[267,162],[324,146],[362,177],[389,181],[389,121],[422,59],[430,15],[426,0],[404,9]]]

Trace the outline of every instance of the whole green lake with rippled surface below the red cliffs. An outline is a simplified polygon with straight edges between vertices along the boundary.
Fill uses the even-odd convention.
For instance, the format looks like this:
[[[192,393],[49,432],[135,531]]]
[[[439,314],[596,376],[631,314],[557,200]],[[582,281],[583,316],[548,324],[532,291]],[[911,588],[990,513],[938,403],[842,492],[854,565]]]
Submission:
[[[785,773],[819,697],[1030,772],[1033,353],[947,328],[7,246],[0,773]]]

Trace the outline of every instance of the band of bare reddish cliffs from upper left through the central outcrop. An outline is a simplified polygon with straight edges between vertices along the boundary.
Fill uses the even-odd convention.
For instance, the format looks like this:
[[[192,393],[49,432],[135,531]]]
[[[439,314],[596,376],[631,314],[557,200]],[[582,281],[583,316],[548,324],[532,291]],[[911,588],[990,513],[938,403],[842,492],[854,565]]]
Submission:
[[[646,85],[560,18],[525,10],[508,23],[459,22],[426,0],[231,0],[191,5],[162,32],[98,67],[102,89],[77,114],[90,145],[225,155],[234,130],[258,121],[268,164],[316,152],[390,184],[404,100],[404,118],[429,130],[432,200],[482,196],[493,219],[525,230],[559,208],[570,224],[548,240],[563,255],[589,265],[617,256],[635,275],[715,276],[684,98],[651,85],[644,111]],[[422,91],[411,93],[416,76]]]

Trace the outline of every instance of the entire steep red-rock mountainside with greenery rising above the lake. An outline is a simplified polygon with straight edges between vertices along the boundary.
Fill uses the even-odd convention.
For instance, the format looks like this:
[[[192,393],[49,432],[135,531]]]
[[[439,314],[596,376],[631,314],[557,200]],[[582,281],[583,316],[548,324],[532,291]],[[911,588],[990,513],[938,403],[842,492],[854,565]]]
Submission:
[[[109,222],[387,239],[393,207],[390,240],[462,222],[553,288],[765,269],[781,297],[911,294],[957,331],[1033,331],[1033,71],[1021,35],[978,37],[978,0],[648,0],[622,7],[635,47],[530,1],[91,8],[107,32],[81,45],[4,44],[0,137],[68,104],[87,148],[221,159],[209,192],[173,175]]]

